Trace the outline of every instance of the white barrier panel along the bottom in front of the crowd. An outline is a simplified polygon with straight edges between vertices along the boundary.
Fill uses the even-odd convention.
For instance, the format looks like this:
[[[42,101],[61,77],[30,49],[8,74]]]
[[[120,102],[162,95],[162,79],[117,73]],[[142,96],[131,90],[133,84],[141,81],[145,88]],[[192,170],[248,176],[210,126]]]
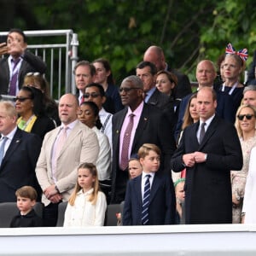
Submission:
[[[0,229],[0,255],[256,255],[256,225]]]

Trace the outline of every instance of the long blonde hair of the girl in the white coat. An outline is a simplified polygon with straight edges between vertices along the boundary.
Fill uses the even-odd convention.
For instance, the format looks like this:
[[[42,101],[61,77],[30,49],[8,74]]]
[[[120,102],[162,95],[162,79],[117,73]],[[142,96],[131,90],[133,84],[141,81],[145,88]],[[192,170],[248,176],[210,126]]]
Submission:
[[[79,169],[88,169],[90,171],[90,174],[93,177],[95,177],[95,182],[92,183],[93,192],[92,192],[92,194],[90,195],[90,198],[89,198],[89,201],[91,202],[91,204],[94,205],[94,204],[96,204],[97,195],[98,195],[98,192],[100,191],[98,172],[97,172],[96,166],[94,164],[91,164],[91,163],[84,163],[84,164],[81,164],[79,166],[78,170]],[[73,189],[73,193],[70,196],[69,201],[68,201],[71,206],[74,205],[77,194],[78,194],[79,190],[81,190],[81,189],[83,189],[83,188],[79,185],[79,182],[77,180],[75,188]]]

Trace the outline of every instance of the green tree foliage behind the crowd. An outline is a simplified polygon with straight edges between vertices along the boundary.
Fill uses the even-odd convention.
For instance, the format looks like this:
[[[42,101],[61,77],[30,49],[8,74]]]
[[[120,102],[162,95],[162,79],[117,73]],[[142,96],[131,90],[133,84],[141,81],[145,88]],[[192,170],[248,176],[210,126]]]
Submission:
[[[135,72],[149,45],[164,49],[166,61],[195,80],[198,61],[212,61],[226,44],[256,47],[253,0],[0,0],[10,14],[3,30],[73,29],[79,58],[107,58],[117,84]],[[21,10],[21,11],[20,11]],[[12,19],[13,18],[13,19]]]

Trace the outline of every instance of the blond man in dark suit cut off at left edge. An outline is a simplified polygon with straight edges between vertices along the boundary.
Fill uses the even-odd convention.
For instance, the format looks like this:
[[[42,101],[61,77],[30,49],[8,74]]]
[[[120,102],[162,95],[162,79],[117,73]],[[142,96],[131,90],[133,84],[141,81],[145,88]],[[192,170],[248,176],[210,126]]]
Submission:
[[[16,190],[25,185],[37,190],[38,200],[42,194],[35,173],[41,138],[21,131],[16,121],[14,104],[0,102],[0,202],[15,202]]]

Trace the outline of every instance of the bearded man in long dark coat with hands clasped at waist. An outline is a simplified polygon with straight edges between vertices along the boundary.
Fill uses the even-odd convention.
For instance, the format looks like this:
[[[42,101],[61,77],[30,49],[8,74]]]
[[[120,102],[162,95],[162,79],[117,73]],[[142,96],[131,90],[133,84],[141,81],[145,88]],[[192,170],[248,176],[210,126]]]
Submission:
[[[241,170],[242,153],[234,125],[215,114],[217,96],[209,87],[197,93],[200,121],[189,125],[173,154],[171,167],[186,167],[185,223],[231,224],[230,170]]]

